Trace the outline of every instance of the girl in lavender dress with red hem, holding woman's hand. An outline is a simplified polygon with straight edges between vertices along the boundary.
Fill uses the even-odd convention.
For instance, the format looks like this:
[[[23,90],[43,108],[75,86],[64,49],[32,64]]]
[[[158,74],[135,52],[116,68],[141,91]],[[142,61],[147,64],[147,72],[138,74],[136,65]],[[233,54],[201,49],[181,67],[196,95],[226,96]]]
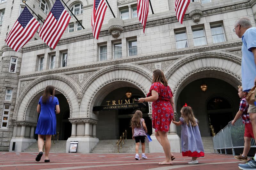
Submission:
[[[185,104],[181,110],[180,122],[172,121],[175,125],[181,125],[181,150],[182,156],[192,157],[188,164],[198,164],[198,157],[204,157],[204,147],[198,121],[192,108]]]

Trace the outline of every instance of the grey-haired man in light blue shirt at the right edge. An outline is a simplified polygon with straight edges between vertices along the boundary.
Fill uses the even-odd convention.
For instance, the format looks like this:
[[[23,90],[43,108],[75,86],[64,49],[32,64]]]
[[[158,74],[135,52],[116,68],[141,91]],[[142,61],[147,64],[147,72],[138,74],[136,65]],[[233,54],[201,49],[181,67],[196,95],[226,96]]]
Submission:
[[[244,92],[249,92],[256,82],[256,28],[252,27],[247,17],[239,18],[233,31],[242,38],[242,86]],[[256,107],[249,105],[248,113],[252,122],[252,130],[256,136]],[[243,170],[256,169],[256,153],[246,164],[238,164]]]

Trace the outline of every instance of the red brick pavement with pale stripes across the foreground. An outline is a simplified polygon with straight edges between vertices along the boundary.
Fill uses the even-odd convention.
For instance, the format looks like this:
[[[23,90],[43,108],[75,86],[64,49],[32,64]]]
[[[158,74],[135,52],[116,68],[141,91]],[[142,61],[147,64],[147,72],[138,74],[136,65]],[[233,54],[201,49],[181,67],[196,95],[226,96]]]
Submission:
[[[164,160],[164,153],[148,153],[148,159],[134,160],[134,154],[96,154],[96,153],[50,153],[49,163],[44,163],[44,156],[36,162],[35,152],[0,152],[0,170],[68,170],[68,169],[176,169],[176,170],[236,170],[240,162],[232,155],[205,153],[204,158],[199,158],[199,164],[188,165],[190,158],[182,157],[181,153],[174,153],[175,160],[172,166],[160,166],[158,162]],[[141,156],[141,154],[140,154]]]

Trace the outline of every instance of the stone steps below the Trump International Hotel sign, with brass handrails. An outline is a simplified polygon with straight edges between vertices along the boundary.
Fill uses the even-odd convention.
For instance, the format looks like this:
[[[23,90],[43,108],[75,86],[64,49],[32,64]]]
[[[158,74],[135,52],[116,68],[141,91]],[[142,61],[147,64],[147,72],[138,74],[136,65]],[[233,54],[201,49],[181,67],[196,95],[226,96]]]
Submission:
[[[100,140],[98,144],[93,148],[92,153],[117,153],[117,140]],[[126,139],[124,144],[122,142],[122,148],[119,145],[119,153],[135,153],[135,140]],[[139,147],[139,153],[141,153],[141,144]],[[145,142],[145,153],[149,153],[148,143]]]

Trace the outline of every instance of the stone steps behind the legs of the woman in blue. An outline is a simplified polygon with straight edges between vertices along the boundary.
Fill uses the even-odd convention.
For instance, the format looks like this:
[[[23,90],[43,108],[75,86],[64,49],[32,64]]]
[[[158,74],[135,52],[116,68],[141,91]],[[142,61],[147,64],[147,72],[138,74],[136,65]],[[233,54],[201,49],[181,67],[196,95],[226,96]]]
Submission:
[[[52,141],[50,153],[59,152],[66,153],[66,140]],[[37,142],[30,145],[24,152],[38,152]]]

